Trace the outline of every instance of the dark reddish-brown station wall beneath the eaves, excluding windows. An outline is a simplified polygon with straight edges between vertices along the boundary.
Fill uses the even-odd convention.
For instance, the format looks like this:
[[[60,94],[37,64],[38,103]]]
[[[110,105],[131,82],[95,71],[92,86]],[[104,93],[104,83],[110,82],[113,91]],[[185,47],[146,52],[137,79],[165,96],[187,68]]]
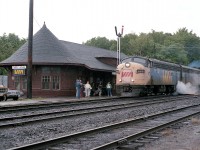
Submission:
[[[58,67],[60,68],[59,72],[44,72],[42,70],[43,67]],[[60,77],[60,89],[52,90],[52,87],[48,90],[42,89],[42,76],[52,76],[56,75]],[[15,80],[16,78],[20,78],[20,86],[18,86],[18,90],[24,92],[26,96],[26,88],[23,88],[23,80],[26,79],[26,76],[16,77],[12,74],[12,70],[10,68],[8,75],[8,88],[16,89]],[[32,97],[75,97],[75,81],[76,79],[82,80],[85,84],[87,81],[90,83],[94,83],[95,86],[99,83],[99,81],[103,82],[103,86],[106,86],[108,81],[114,82],[115,76],[112,75],[111,72],[103,72],[103,71],[94,71],[89,70],[82,66],[33,66],[32,70]]]

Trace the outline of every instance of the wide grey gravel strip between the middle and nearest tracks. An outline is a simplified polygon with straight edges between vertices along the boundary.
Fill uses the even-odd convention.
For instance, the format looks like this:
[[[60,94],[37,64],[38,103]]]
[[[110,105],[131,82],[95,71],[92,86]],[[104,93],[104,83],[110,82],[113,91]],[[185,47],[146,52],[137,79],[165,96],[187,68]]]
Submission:
[[[88,115],[88,116],[81,116],[81,117],[74,117],[74,118],[52,120],[52,122],[48,122],[48,123],[44,122],[44,123],[38,123],[34,125],[16,126],[12,129],[1,130],[0,149],[8,149],[16,145],[23,145],[25,143],[31,143],[33,141],[34,142],[41,141],[41,140],[53,138],[55,136],[61,136],[61,135],[64,135],[65,133],[70,134],[76,131],[86,130],[86,129],[101,126],[101,125],[106,125],[106,124],[109,124],[110,122],[118,122],[120,120],[128,119],[130,117],[132,118],[134,116],[142,116],[148,113],[153,113],[157,111],[174,108],[176,106],[179,107],[181,105],[191,104],[191,102],[192,102],[191,100],[186,100],[182,102],[169,102],[168,104],[165,104],[165,105],[164,104],[151,105],[148,107],[139,107],[136,109],[130,108],[123,111],[99,113],[97,115]],[[199,101],[197,100],[197,102]],[[200,125],[200,123],[198,125]],[[199,133],[200,133],[200,129],[199,129]],[[183,135],[186,135],[186,134],[187,134],[186,132],[183,133]],[[170,135],[172,136],[173,134],[170,134]],[[165,138],[168,138],[168,137],[169,136],[166,136]],[[162,138],[160,138],[160,140],[161,139]],[[154,142],[156,143],[156,142],[159,142],[160,140],[154,141]],[[162,141],[160,142],[162,143]],[[154,145],[156,144],[153,144],[152,146]],[[162,144],[158,143],[158,145],[161,146]],[[149,145],[143,148],[144,150],[146,149],[149,150],[149,148],[151,148],[152,146]],[[160,150],[160,149],[152,148],[150,150]]]

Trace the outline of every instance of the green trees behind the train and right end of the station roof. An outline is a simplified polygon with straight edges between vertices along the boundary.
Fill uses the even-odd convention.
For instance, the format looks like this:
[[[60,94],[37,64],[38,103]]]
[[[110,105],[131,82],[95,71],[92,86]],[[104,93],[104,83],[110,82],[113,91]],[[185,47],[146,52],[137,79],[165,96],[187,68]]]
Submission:
[[[117,41],[105,37],[88,40],[86,45],[117,50]],[[140,55],[169,62],[187,65],[194,60],[200,60],[200,38],[186,28],[178,29],[174,34],[156,32],[130,33],[121,38],[121,52]]]

